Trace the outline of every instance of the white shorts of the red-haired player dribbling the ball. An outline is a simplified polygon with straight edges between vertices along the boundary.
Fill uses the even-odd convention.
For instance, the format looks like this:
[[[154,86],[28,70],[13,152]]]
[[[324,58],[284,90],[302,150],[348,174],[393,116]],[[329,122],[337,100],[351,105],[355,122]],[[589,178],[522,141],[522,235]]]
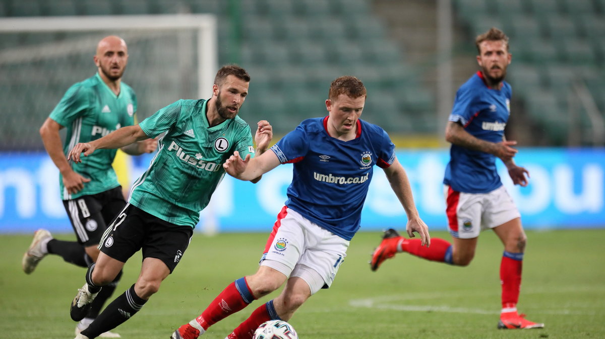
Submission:
[[[301,277],[314,294],[332,285],[349,242],[284,206],[260,264],[287,277]]]

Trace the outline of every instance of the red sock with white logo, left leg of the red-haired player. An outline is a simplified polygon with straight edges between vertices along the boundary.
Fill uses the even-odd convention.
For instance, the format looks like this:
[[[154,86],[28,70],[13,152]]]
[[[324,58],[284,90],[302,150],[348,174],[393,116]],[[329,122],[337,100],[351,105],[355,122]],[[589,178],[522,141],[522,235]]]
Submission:
[[[201,327],[208,329],[227,316],[241,311],[254,299],[246,283],[246,278],[237,279],[218,294],[195,320],[197,320]]]

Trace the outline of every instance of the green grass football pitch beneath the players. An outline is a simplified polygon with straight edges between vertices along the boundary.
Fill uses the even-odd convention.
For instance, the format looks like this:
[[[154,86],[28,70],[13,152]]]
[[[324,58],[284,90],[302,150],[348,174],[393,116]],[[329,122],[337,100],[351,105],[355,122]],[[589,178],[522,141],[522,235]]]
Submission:
[[[400,253],[370,271],[380,232],[355,236],[329,290],[321,290],[290,323],[300,338],[605,338],[605,229],[528,232],[518,305],[545,329],[498,330],[502,245],[483,232],[474,261],[452,267]],[[436,238],[449,236],[432,232]],[[55,235],[72,239],[72,235]],[[169,338],[235,279],[256,270],[267,234],[196,233],[177,269],[145,307],[116,332],[125,339]],[[21,270],[30,235],[0,236],[0,337],[73,338],[68,309],[83,268],[57,256]],[[125,266],[117,292],[134,283],[140,253]],[[212,326],[224,338],[279,291]]]

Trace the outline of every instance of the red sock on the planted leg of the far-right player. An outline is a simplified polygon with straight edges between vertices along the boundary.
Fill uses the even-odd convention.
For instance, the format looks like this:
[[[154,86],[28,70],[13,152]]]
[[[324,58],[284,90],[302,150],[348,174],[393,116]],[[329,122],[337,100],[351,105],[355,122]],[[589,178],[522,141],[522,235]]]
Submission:
[[[523,253],[504,252],[500,262],[500,284],[502,284],[502,308],[517,305],[521,290]]]

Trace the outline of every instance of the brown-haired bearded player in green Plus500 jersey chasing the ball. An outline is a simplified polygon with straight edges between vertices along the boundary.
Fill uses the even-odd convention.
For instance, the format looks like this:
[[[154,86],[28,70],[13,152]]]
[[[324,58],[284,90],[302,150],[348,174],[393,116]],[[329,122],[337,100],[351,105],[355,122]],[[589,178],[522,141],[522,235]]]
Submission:
[[[250,75],[243,68],[224,66],[217,72],[209,100],[178,100],[138,125],[77,144],[70,151],[68,158],[79,163],[99,149],[118,148],[165,133],[148,170],[132,188],[128,204],[103,235],[99,259],[88,268],[86,284],[71,303],[71,318],[77,321],[84,317],[101,287],[142,250],[139,279],[76,338],[96,338],[116,328],[157,293],[185,253],[200,211],[224,176],[223,163],[234,151],[242,157],[255,153],[250,127],[237,116],[249,82]],[[273,132],[267,121],[257,125],[256,154],[262,154]],[[258,180],[260,177],[250,181]]]

